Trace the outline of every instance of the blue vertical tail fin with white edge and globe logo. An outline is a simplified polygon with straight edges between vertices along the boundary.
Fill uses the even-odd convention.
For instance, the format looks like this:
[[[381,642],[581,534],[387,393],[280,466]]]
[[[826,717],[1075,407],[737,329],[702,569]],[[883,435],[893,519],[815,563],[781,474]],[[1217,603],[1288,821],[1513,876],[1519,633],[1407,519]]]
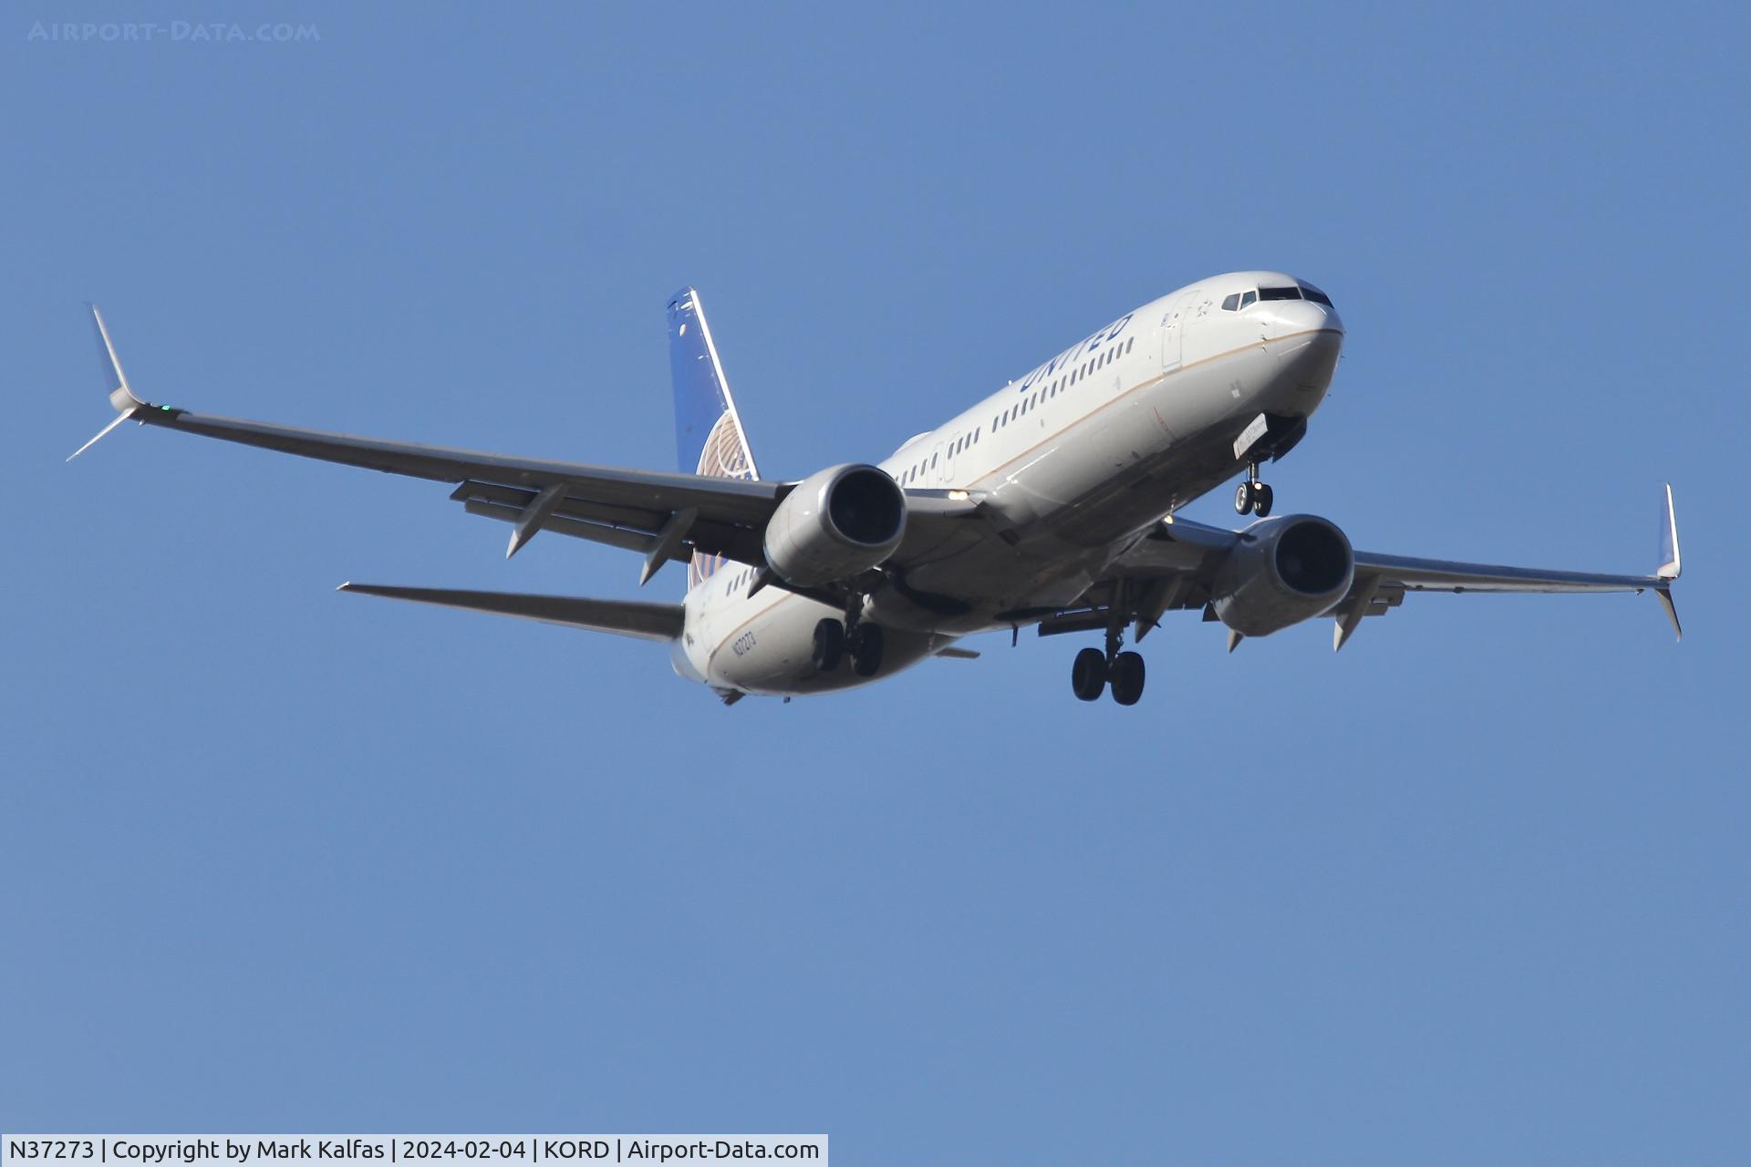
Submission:
[[[669,376],[674,380],[674,450],[679,469],[713,478],[760,478],[699,292],[669,297]]]

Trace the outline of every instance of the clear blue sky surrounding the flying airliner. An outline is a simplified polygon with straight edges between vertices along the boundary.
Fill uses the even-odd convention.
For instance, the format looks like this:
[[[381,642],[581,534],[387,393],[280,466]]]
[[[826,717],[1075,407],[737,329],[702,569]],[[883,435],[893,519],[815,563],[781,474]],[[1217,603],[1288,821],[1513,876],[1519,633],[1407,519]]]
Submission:
[[[119,12],[0,28],[0,1129],[1751,1160],[1744,5],[39,16]],[[1135,710],[996,635],[721,709],[650,646],[333,595],[636,595],[441,485],[131,427],[61,464],[88,297],[154,399],[667,469],[695,283],[802,476],[1254,266],[1350,329],[1278,509],[1641,570],[1670,479],[1686,640],[1413,597],[1336,658],[1182,619]]]

